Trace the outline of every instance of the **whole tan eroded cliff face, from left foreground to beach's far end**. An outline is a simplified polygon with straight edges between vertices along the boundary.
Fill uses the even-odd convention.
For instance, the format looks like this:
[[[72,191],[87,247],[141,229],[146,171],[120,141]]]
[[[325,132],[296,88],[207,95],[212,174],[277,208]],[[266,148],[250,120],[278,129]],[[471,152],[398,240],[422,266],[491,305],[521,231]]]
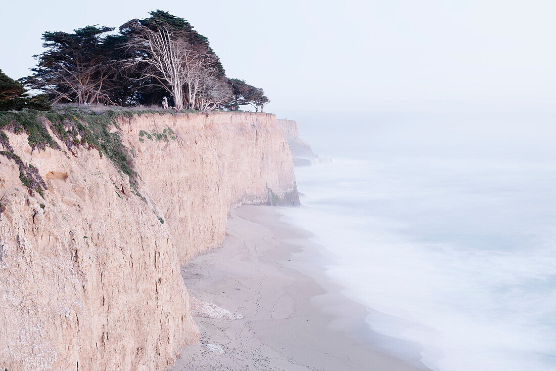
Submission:
[[[230,207],[298,202],[274,115],[118,123],[136,188],[95,149],[7,133],[47,189],[30,196],[0,157],[2,368],[167,369],[198,339],[180,263],[222,242]]]

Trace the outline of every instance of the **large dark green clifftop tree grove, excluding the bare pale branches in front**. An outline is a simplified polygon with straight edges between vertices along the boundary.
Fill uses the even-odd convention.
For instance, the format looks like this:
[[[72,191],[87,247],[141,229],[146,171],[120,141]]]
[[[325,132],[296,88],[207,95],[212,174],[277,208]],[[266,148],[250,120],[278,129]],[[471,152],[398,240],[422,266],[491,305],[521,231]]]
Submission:
[[[32,69],[33,75],[20,81],[47,95],[29,98],[29,105],[17,109],[48,110],[48,99],[53,102],[131,106],[161,105],[163,97],[168,97],[170,105],[176,105],[169,96],[171,89],[168,89],[168,81],[160,74],[153,74],[148,63],[129,63],[142,61],[151,53],[148,48],[133,46],[130,42],[134,36],[140,35],[143,26],[153,31],[165,29],[172,32],[173,40],[185,42],[191,51],[204,56],[211,71],[215,71],[216,75],[211,76],[212,82],[207,84],[212,84],[216,90],[204,90],[205,96],[201,98],[197,95],[193,102],[186,102],[190,87],[184,83],[183,99],[189,104],[188,108],[211,110],[228,107],[239,110],[241,105],[251,104],[257,111],[259,108],[262,111],[262,106],[269,102],[262,89],[248,85],[249,89],[236,94],[234,102],[229,104],[227,89],[222,89],[228,82],[226,73],[220,58],[210,47],[209,39],[193,30],[185,19],[156,10],[150,12],[147,18],[126,22],[119,28],[119,33],[112,35],[108,35],[114,30],[112,27],[97,25],[78,28],[73,33],[44,32],[42,40],[46,50],[36,56],[38,65]],[[214,104],[203,102],[211,99],[214,99]]]

